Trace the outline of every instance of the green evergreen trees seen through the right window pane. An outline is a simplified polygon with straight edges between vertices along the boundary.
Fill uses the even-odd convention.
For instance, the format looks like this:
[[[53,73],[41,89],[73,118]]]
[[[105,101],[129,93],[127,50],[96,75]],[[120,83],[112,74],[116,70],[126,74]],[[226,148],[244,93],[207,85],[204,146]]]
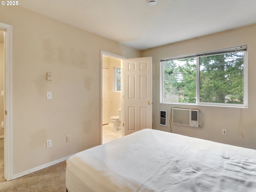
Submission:
[[[243,103],[244,54],[200,58],[200,101]]]

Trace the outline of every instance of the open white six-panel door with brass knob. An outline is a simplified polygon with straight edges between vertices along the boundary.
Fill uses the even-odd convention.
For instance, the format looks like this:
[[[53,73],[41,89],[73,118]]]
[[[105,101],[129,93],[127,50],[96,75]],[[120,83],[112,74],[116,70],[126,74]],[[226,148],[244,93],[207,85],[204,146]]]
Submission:
[[[124,60],[124,135],[152,129],[152,57]]]

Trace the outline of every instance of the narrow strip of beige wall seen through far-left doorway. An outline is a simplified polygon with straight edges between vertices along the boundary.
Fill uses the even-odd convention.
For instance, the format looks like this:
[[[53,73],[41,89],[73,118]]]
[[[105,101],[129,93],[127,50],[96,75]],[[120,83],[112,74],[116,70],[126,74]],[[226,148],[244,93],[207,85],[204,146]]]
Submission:
[[[4,128],[1,122],[4,121],[4,96],[1,91],[4,91],[4,44],[0,44],[0,136],[3,136]]]

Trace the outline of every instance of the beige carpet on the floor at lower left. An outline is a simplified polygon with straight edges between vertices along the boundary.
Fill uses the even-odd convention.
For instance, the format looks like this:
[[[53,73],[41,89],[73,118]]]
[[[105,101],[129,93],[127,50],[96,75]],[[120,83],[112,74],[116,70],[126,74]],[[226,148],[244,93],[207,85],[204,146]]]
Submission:
[[[4,181],[4,150],[0,139],[0,192],[66,192],[66,161],[26,176]]]

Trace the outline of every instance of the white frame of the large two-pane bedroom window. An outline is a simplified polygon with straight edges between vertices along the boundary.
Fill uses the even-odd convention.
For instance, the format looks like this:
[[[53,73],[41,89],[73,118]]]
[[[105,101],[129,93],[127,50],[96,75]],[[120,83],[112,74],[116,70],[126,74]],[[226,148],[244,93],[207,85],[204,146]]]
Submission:
[[[238,46],[237,48],[239,48]],[[245,47],[245,46],[244,46]],[[229,50],[234,48],[228,48],[228,49],[222,49],[222,50]],[[243,104],[230,104],[230,103],[210,103],[210,102],[200,102],[200,61],[199,57],[204,54],[210,54],[216,55],[216,52],[222,51],[222,50],[216,50],[212,52],[204,52],[199,54],[191,54],[191,55],[184,55],[179,57],[173,57],[173,58],[167,58],[168,60],[176,60],[180,58],[186,58],[186,57],[192,57],[197,58],[196,61],[196,103],[181,103],[181,102],[164,102],[164,60],[167,59],[160,59],[160,103],[164,104],[186,104],[186,105],[206,105],[206,106],[228,106],[228,107],[242,107],[242,108],[248,108],[248,76],[247,76],[247,57],[248,57],[248,51],[246,46],[246,51],[244,51],[244,103]],[[238,49],[239,51],[239,49]],[[198,57],[196,57],[198,55]],[[200,55],[200,56],[199,56]]]

